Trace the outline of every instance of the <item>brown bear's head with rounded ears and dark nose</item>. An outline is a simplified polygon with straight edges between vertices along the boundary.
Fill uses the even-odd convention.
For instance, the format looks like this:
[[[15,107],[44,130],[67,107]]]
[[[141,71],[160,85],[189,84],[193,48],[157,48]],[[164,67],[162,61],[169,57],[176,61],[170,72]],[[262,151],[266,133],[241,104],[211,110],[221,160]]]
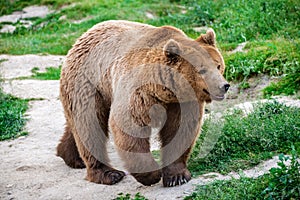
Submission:
[[[223,77],[225,63],[215,38],[209,29],[196,40],[175,37],[163,47],[168,65],[184,75],[197,98],[206,102],[223,100],[230,87]]]

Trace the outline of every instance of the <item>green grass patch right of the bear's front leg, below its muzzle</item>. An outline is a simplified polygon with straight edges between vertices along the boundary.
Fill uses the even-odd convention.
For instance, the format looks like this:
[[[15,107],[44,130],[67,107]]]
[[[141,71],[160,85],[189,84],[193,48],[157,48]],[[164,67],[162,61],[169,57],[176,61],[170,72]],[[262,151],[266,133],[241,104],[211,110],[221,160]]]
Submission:
[[[227,174],[288,153],[291,144],[300,152],[299,118],[299,108],[270,102],[257,105],[247,116],[236,110],[223,121],[205,120],[188,167],[193,175]]]

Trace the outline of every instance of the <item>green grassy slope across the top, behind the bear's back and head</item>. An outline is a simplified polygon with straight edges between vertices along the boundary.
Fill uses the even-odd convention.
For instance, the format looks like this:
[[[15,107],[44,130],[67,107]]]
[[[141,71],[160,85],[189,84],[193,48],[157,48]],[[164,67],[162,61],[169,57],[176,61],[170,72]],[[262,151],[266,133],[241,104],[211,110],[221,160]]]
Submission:
[[[75,40],[93,25],[109,19],[125,19],[155,26],[173,25],[196,38],[200,33],[193,27],[215,29],[231,81],[242,81],[256,74],[284,76],[278,84],[268,87],[264,94],[295,94],[299,81],[299,18],[297,0],[224,0],[224,1],[104,1],[104,0],[18,0],[2,1],[0,14],[9,14],[28,5],[43,4],[55,13],[45,19],[32,19],[28,30],[20,26],[13,34],[0,34],[2,54],[60,54],[65,55]],[[72,5],[69,7],[62,6]],[[155,18],[146,17],[146,12]],[[65,16],[65,20],[60,20]],[[73,21],[87,18],[80,24]],[[247,53],[227,54],[238,43],[248,41]],[[296,73],[294,76],[290,75]]]

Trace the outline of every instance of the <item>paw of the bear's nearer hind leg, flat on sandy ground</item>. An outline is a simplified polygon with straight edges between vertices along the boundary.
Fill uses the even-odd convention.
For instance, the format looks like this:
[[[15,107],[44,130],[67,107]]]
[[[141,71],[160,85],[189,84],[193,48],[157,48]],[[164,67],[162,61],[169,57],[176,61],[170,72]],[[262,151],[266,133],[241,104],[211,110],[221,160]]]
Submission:
[[[87,180],[105,185],[113,185],[120,182],[125,173],[119,170],[102,170],[102,169],[90,169],[88,170]]]

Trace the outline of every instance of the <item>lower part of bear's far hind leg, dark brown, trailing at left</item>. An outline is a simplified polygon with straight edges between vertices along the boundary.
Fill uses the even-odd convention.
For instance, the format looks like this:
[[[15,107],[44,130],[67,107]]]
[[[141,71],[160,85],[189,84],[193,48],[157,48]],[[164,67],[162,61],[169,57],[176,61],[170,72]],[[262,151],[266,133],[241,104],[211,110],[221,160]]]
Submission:
[[[65,133],[57,145],[56,155],[61,157],[69,167],[85,168],[84,162],[79,156],[74,136],[68,125],[66,125]]]

